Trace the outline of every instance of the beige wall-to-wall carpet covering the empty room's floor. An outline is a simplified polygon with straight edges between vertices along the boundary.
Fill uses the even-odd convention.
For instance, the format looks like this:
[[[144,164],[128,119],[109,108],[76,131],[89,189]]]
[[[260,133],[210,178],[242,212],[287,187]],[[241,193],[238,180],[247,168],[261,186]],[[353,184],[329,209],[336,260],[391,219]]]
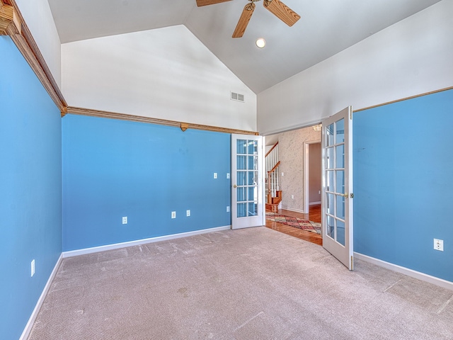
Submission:
[[[451,340],[452,300],[257,227],[64,259],[29,339]]]

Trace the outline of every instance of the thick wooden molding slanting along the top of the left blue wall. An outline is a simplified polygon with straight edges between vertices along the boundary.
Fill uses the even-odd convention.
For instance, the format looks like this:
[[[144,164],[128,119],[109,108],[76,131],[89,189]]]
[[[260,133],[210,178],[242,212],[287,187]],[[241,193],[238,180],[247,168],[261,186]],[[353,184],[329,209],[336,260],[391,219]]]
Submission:
[[[60,111],[67,103],[14,0],[0,0],[0,35],[9,35]]]

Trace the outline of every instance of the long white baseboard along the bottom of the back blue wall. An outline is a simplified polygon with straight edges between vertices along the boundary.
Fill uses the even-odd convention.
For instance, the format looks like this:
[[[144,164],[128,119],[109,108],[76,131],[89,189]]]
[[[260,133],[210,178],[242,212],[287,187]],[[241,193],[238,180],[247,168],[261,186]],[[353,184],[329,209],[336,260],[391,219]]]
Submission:
[[[93,246],[92,248],[63,251],[62,256],[63,256],[63,259],[67,259],[68,257],[92,254],[92,253],[97,253],[99,251],[120,249],[120,248],[125,248],[126,246],[139,246],[140,244],[167,241],[168,239],[179,239],[180,237],[189,237],[189,236],[198,235],[198,234],[206,234],[207,232],[220,232],[222,230],[228,230],[228,229],[231,229],[231,225],[225,225],[224,227],[215,227],[215,228],[210,228],[210,229],[194,230],[193,232],[181,232],[179,234],[150,237],[149,239],[138,239],[137,241],[107,244],[105,246]]]

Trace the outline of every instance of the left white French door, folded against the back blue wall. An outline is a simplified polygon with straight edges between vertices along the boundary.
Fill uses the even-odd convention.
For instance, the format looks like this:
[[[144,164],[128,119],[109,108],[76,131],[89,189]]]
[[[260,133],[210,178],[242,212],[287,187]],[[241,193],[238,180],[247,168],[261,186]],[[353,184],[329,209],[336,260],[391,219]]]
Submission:
[[[265,223],[263,137],[231,135],[231,229]]]

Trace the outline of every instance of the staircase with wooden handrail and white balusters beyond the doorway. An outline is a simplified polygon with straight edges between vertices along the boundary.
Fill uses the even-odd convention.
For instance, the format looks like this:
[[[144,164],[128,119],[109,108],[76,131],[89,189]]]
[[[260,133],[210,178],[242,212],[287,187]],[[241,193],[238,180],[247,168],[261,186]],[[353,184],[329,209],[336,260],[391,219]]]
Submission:
[[[266,153],[266,210],[278,211],[278,205],[282,201],[282,191],[279,187],[280,160],[278,159],[278,142]]]

